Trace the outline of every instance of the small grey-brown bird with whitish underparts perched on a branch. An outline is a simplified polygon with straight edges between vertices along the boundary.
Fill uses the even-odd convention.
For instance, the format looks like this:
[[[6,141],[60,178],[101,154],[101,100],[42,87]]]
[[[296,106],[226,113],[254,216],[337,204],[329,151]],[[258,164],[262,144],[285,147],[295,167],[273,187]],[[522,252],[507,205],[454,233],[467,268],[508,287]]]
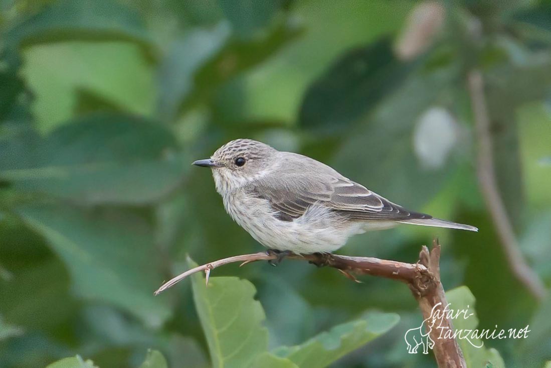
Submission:
[[[478,231],[404,209],[310,157],[238,139],[210,159],[226,212],[253,238],[276,252],[328,253],[350,236],[399,223]]]

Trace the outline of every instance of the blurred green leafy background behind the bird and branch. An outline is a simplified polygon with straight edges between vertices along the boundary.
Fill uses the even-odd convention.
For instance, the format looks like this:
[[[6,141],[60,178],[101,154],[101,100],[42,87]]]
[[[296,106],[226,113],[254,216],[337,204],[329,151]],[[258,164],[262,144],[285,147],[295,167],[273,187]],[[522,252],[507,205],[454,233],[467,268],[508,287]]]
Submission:
[[[153,291],[187,255],[263,249],[190,165],[241,137],[479,227],[337,253],[414,263],[439,237],[444,288],[471,290],[479,328],[530,324],[485,346],[551,359],[550,1],[0,0],[0,47],[1,367],[137,367],[148,348],[210,366],[190,282]],[[435,366],[407,354],[422,318],[399,282],[291,261],[213,275],[256,287],[269,348],[377,310],[401,319],[332,367]]]

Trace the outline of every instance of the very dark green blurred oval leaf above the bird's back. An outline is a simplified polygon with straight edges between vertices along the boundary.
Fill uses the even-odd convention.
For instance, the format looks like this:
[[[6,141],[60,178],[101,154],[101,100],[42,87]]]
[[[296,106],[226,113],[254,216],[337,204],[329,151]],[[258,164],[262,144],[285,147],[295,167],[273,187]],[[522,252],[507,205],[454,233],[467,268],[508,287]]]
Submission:
[[[389,38],[349,51],[307,90],[300,124],[346,127],[402,84],[411,70],[411,63],[396,58]]]

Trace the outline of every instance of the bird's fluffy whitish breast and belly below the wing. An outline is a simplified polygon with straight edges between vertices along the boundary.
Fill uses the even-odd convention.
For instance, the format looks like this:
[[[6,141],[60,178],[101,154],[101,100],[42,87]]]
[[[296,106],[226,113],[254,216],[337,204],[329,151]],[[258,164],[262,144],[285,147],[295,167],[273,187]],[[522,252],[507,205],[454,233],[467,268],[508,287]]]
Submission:
[[[312,206],[293,221],[281,221],[274,217],[267,200],[239,194],[226,195],[223,199],[228,214],[269,249],[298,254],[333,252],[344,246],[350,236],[363,233],[369,227],[361,222],[343,222],[323,206]]]

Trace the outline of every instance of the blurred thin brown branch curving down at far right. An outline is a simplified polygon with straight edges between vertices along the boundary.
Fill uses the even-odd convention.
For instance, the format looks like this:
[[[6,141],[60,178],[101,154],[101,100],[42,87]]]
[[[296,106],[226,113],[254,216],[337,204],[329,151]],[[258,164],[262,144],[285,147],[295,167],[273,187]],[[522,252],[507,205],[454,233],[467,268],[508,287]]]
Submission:
[[[487,103],[484,96],[484,81],[482,73],[473,70],[468,74],[468,89],[471,95],[471,104],[476,124],[476,135],[478,138],[477,175],[478,184],[486,207],[490,212],[491,220],[503,247],[507,263],[516,278],[526,286],[528,291],[538,300],[542,300],[547,291],[538,275],[527,264],[524,259],[515,233],[512,230],[511,220],[501,195],[498,184],[495,180],[493,143],[490,133],[490,117]]]

